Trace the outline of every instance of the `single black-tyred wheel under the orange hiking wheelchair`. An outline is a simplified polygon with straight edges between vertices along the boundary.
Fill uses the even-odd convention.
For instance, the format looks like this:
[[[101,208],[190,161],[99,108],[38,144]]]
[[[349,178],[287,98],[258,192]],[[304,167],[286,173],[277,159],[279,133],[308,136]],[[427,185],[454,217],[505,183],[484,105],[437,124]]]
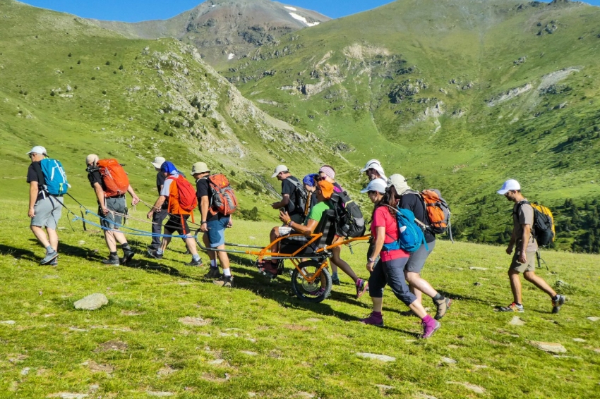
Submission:
[[[307,260],[298,266],[300,269],[302,269],[302,271],[304,271],[306,276],[311,277],[316,274],[320,268],[320,263],[313,260]],[[320,271],[320,276],[318,276],[312,283],[309,283],[300,274],[298,269],[294,269],[292,272],[292,288],[294,289],[296,296],[301,300],[315,303],[322,302],[331,293],[331,274],[325,267]]]

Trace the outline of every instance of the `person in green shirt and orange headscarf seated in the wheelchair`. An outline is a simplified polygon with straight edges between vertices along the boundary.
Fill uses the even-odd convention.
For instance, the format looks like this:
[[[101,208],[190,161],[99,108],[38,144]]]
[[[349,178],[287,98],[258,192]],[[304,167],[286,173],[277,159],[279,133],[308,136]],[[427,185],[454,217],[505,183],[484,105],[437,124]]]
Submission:
[[[305,224],[294,222],[287,212],[280,211],[280,220],[284,223],[284,226],[275,226],[272,228],[270,234],[271,243],[277,240],[277,238],[291,234],[292,231],[294,231],[294,233],[304,234],[307,238],[310,237],[313,231],[315,231],[315,228],[318,226],[318,223],[323,216],[323,212],[327,211],[328,209],[333,209],[334,205],[332,202],[330,202],[333,192],[332,183],[326,180],[320,180],[316,183],[315,194],[318,198],[318,202],[314,207],[312,207]],[[276,247],[273,247],[271,250],[273,252],[278,252]],[[260,266],[262,266],[263,271],[268,271],[273,276],[277,276],[277,259],[263,261],[263,264]],[[365,292],[368,284],[362,278],[358,278],[349,266],[348,268],[352,273],[349,274],[349,276],[351,276],[354,280],[354,285],[356,287],[356,298],[359,298]]]

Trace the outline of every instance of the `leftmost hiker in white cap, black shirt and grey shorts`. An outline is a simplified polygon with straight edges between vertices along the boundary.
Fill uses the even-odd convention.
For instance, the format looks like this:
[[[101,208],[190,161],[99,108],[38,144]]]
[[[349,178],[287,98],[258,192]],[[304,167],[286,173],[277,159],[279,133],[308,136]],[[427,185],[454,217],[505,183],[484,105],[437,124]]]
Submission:
[[[46,248],[46,255],[40,260],[40,264],[58,266],[59,235],[56,233],[56,225],[61,219],[63,197],[62,195],[51,195],[44,190],[46,178],[42,171],[41,161],[47,157],[46,149],[36,145],[27,155],[31,159],[27,170],[30,228],[35,238]],[[46,228],[45,232],[44,228]]]

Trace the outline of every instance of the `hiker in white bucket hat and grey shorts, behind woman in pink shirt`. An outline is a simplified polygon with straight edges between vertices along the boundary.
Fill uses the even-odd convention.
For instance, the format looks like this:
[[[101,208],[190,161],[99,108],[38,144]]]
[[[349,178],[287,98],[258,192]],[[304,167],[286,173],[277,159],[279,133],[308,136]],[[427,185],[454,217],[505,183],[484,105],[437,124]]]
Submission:
[[[394,174],[388,179],[390,187],[390,197],[397,201],[397,207],[409,209],[414,214],[414,217],[422,223],[428,223],[427,209],[425,202],[419,195],[419,192],[412,190],[407,184],[407,179],[399,174]],[[418,250],[411,252],[407,263],[404,265],[404,277],[409,283],[410,291],[416,297],[416,300],[421,303],[423,293],[428,295],[433,300],[433,305],[436,305],[436,320],[444,317],[452,300],[444,297],[438,291],[434,290],[427,281],[421,278],[421,270],[433,249],[436,247],[436,235],[428,228],[424,231],[425,242],[427,245],[421,245]],[[405,313],[412,315],[412,312]]]

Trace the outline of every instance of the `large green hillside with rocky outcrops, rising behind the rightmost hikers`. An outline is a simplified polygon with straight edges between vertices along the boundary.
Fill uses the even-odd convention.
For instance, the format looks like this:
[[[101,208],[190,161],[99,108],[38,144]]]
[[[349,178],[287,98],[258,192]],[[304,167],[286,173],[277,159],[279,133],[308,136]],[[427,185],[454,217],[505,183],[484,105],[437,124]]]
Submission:
[[[507,178],[555,209],[600,197],[599,20],[570,1],[398,0],[287,35],[224,75],[354,164],[378,158],[440,188],[463,238],[496,241]]]

